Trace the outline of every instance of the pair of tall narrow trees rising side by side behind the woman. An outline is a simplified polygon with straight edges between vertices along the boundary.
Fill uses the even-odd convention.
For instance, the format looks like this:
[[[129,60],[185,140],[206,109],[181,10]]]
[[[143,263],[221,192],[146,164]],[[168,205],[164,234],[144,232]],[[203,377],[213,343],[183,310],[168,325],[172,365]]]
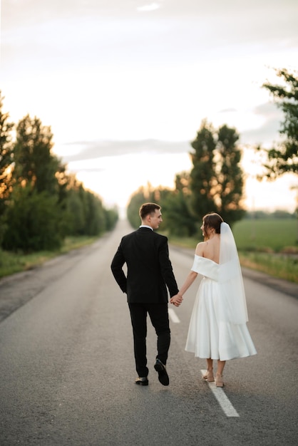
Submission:
[[[232,225],[245,214],[241,207],[243,172],[238,139],[235,129],[222,125],[216,131],[203,121],[191,144],[192,209],[200,220],[207,212],[217,212]]]

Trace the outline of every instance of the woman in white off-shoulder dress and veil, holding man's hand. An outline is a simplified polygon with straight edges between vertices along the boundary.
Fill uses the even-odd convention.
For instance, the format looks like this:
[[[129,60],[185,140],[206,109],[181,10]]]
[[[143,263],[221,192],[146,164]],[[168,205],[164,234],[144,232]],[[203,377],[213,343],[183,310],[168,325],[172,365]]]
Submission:
[[[178,294],[170,303],[179,306],[183,294],[202,274],[192,309],[185,350],[207,360],[203,378],[224,385],[225,361],[257,353],[247,328],[247,306],[242,272],[230,226],[215,212],[202,219],[204,242],[197,244],[195,259]],[[217,360],[214,377],[213,361]]]

